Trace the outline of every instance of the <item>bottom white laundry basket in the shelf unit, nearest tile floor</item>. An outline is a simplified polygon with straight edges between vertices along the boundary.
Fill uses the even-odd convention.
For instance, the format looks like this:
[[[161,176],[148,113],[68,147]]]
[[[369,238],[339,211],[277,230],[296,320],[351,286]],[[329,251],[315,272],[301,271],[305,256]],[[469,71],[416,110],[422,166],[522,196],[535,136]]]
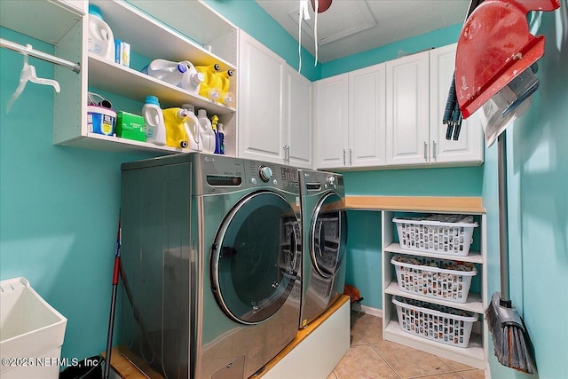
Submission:
[[[475,313],[394,296],[400,329],[439,343],[468,347]]]

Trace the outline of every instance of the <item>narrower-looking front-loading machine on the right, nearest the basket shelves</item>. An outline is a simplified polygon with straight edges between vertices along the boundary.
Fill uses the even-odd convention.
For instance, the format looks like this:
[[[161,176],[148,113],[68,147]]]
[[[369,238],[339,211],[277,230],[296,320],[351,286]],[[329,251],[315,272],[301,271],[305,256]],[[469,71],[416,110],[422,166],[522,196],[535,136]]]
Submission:
[[[347,217],[343,176],[298,170],[303,270],[299,328],[305,328],[343,294]]]

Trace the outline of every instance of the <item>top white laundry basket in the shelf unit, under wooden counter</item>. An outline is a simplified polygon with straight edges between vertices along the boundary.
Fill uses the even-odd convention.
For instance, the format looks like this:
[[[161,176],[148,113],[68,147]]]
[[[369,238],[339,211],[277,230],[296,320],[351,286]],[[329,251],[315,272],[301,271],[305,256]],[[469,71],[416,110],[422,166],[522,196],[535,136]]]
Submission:
[[[462,215],[431,215],[430,217],[393,218],[397,224],[398,241],[402,249],[437,253],[454,257],[469,254],[473,217]]]

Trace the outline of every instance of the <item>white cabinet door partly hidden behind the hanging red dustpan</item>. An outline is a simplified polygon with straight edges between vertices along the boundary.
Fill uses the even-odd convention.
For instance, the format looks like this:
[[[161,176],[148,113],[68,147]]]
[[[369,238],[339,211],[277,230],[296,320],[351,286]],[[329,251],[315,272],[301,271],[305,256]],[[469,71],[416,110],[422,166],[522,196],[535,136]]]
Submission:
[[[483,129],[478,114],[461,123],[458,140],[446,139],[442,123],[455,69],[457,43],[430,51],[430,162],[483,162]]]

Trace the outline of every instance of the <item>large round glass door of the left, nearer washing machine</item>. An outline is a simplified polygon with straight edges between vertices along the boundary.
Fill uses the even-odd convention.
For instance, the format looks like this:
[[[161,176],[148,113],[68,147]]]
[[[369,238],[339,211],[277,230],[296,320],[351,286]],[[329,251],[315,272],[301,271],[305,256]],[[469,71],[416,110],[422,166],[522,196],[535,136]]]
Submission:
[[[233,320],[256,324],[286,302],[301,264],[299,223],[279,193],[262,191],[239,201],[217,231],[211,286]]]

